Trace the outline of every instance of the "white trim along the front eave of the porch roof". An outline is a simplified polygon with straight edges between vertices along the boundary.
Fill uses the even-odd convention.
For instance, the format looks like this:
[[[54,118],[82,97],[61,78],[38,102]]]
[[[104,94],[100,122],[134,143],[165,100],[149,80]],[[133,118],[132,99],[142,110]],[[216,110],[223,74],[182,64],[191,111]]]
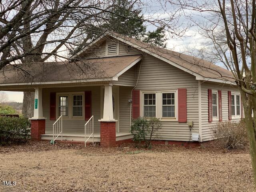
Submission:
[[[45,81],[45,82],[25,82],[25,83],[3,83],[0,86],[17,86],[17,85],[43,85],[43,84],[61,84],[61,83],[79,83],[79,82],[97,82],[97,81],[118,81],[118,77],[112,78],[94,78],[82,80],[66,80],[66,81]]]

